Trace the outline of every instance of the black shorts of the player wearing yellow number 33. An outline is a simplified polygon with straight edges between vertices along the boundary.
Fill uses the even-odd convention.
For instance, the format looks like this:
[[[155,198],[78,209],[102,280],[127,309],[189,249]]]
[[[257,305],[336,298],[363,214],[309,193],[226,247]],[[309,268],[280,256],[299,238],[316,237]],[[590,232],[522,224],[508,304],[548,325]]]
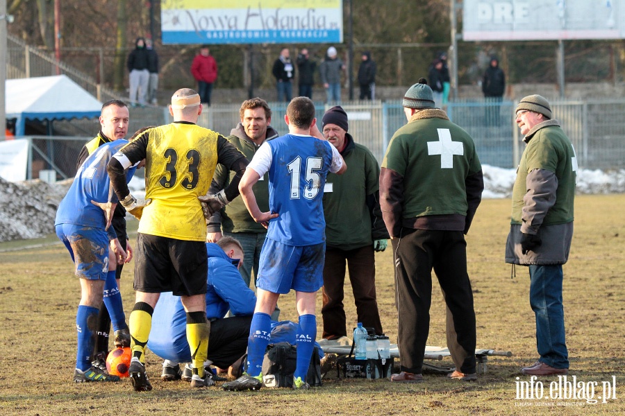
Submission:
[[[137,234],[135,291],[204,295],[207,275],[206,243]]]

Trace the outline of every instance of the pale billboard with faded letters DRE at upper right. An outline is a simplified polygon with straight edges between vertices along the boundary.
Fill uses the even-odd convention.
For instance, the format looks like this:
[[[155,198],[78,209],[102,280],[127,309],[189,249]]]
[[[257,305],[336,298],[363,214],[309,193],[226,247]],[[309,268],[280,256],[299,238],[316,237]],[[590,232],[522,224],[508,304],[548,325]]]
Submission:
[[[625,0],[464,0],[462,39],[624,39]]]

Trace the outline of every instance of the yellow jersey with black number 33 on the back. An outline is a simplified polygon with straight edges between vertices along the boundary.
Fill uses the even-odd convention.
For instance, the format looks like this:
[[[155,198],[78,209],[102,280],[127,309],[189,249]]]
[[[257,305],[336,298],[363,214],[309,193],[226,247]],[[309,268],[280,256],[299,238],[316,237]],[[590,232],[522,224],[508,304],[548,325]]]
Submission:
[[[144,208],[139,232],[187,241],[206,240],[206,220],[198,196],[206,195],[217,165],[213,130],[170,123],[145,133]]]

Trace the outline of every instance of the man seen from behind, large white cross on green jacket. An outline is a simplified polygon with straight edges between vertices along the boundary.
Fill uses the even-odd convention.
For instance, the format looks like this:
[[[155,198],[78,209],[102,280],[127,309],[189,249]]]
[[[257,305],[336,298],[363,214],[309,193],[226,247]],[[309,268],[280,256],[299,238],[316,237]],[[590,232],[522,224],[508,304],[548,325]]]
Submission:
[[[473,139],[434,108],[421,78],[403,97],[408,124],[393,135],[382,162],[380,205],[393,246],[400,372],[418,383],[430,327],[432,269],[447,305],[451,379],[476,380],[476,323],[465,236],[484,189]]]

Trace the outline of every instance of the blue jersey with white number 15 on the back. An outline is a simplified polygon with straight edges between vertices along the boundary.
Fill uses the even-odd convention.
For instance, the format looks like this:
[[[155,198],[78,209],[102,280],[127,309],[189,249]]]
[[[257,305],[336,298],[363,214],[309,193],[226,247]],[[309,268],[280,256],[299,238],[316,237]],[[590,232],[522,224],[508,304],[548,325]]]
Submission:
[[[266,141],[272,150],[269,167],[267,237],[286,245],[326,241],[323,196],[332,164],[332,145],[310,136],[285,135]]]

